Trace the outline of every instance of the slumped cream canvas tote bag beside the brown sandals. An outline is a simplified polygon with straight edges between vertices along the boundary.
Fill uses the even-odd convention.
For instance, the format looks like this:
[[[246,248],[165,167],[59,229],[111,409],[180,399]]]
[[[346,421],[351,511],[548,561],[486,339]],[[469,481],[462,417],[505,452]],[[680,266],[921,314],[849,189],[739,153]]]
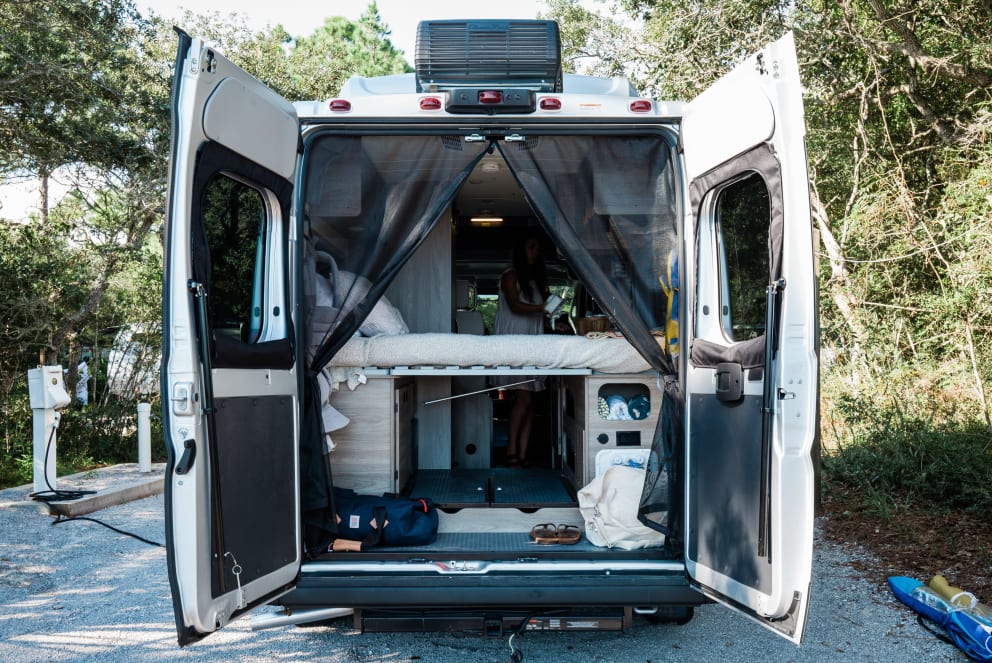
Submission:
[[[614,465],[579,491],[586,538],[595,546],[636,550],[665,544],[665,535],[637,519],[646,472]]]

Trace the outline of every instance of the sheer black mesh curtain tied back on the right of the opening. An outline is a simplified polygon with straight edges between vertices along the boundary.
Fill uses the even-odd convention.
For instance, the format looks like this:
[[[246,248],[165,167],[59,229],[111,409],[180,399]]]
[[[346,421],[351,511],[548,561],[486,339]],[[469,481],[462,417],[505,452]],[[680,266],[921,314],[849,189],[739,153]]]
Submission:
[[[659,343],[681,211],[671,146],[657,135],[541,136],[500,151],[572,270],[665,376],[638,517],[676,551],[685,408],[673,359]]]

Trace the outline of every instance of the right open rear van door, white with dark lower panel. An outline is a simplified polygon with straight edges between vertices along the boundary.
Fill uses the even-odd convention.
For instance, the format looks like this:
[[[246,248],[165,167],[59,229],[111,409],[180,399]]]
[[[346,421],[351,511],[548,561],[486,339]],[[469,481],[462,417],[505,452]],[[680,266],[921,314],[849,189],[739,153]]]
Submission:
[[[686,565],[707,596],[802,638],[818,441],[817,289],[791,34],[686,107]],[[690,261],[688,264],[692,264]]]

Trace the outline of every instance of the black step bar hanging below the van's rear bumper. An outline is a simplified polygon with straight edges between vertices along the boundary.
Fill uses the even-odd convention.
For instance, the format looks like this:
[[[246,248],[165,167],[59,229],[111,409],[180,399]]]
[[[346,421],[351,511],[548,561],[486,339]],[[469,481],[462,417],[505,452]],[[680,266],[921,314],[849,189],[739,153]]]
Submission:
[[[457,633],[499,638],[526,631],[622,631],[632,610],[599,608],[506,609],[498,612],[446,610],[355,610],[355,628],[363,633]]]

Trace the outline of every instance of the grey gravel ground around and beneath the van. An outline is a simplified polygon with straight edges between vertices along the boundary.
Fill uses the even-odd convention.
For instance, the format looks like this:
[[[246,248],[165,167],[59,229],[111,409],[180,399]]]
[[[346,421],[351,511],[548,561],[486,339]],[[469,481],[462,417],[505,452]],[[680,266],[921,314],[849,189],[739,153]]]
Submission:
[[[61,487],[61,486],[60,486]],[[0,661],[508,661],[505,639],[435,634],[362,635],[330,626],[252,631],[241,619],[180,649],[165,551],[91,522],[52,519],[24,489],[0,491]],[[93,514],[164,540],[162,497]],[[810,621],[796,647],[717,605],[686,626],[641,618],[625,632],[526,633],[524,661],[965,661],[920,627],[877,579],[850,562],[867,553],[817,535]],[[270,608],[263,608],[269,610]]]

